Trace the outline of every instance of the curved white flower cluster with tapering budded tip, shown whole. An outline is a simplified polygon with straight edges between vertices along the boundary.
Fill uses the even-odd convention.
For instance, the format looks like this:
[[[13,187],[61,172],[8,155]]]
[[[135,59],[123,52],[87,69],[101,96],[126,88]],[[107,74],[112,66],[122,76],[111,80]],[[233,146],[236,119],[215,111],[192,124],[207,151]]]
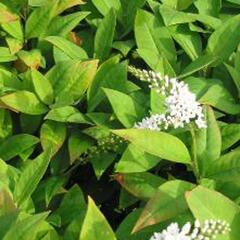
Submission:
[[[206,128],[203,109],[196,100],[196,95],[190,92],[188,85],[176,78],[162,77],[160,73],[136,69],[132,66],[128,71],[142,81],[149,82],[149,87],[165,96],[166,112],[144,118],[135,125],[136,128],[146,128],[160,131],[172,126],[184,127],[194,121],[198,128]]]

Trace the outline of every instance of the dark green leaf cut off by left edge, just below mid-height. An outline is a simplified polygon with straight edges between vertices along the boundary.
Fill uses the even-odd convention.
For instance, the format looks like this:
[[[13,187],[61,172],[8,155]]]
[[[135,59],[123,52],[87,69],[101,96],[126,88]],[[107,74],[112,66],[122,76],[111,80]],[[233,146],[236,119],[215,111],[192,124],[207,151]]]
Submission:
[[[4,161],[8,161],[21,154],[23,151],[36,145],[38,142],[39,139],[32,135],[13,135],[0,144],[0,158],[2,158]]]

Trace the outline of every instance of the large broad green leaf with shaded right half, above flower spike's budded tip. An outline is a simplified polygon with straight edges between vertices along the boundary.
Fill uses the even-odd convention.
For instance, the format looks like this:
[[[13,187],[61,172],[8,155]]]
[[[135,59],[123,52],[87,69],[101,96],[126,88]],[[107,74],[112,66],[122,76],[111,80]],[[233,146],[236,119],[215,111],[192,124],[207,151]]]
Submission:
[[[134,32],[139,49],[149,49],[170,63],[176,62],[176,50],[168,29],[151,13],[138,10]]]

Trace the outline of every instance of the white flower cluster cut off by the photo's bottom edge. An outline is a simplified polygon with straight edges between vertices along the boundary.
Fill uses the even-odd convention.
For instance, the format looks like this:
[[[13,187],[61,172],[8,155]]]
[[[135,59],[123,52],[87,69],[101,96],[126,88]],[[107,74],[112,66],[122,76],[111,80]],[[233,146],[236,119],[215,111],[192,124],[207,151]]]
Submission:
[[[194,225],[188,222],[182,229],[177,223],[172,223],[161,233],[154,233],[150,240],[213,240],[217,235],[227,234],[230,231],[226,221],[206,220],[200,224],[196,220]]]

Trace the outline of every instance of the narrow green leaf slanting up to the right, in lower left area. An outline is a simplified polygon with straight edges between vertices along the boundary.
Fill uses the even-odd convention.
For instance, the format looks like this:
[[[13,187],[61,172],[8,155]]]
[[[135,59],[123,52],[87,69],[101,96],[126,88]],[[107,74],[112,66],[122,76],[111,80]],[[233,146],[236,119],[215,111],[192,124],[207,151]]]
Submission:
[[[47,170],[50,155],[49,150],[41,153],[34,160],[30,161],[20,174],[14,189],[14,200],[19,206],[23,205],[36,189]]]

